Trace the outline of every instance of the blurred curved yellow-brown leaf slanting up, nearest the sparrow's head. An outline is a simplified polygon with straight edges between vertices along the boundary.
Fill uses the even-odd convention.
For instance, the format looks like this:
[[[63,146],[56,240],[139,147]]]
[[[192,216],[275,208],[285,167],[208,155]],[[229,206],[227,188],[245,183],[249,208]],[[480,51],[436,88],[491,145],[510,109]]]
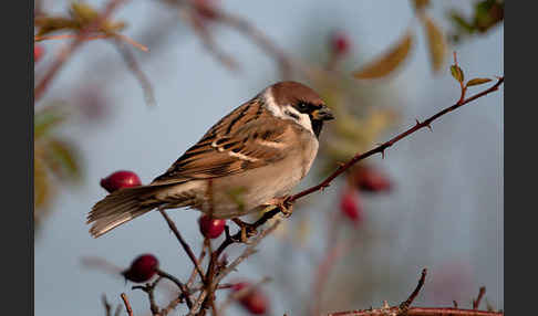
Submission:
[[[407,57],[411,46],[413,45],[413,36],[410,32],[400,40],[400,42],[391,48],[385,55],[376,61],[365,65],[361,70],[353,73],[356,78],[380,78],[393,72]]]

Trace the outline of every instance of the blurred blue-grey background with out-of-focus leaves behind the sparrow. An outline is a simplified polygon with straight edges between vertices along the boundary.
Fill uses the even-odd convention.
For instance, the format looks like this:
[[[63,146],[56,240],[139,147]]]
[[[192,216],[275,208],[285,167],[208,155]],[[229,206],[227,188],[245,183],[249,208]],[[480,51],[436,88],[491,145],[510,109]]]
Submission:
[[[206,0],[187,8],[179,2],[120,6],[111,21],[124,22],[121,33],[148,52],[128,42],[89,41],[37,98],[35,315],[105,315],[102,294],[117,305],[122,292],[135,315],[151,315],[144,293],[89,259],[126,267],[138,254],[153,253],[182,280],[192,264],[157,212],[91,238],[85,218],[106,196],[101,179],[132,170],[149,182],[266,86],[282,78],[303,82],[337,113],[299,191],[337,162],[457,102],[453,51],[466,81],[504,75],[503,1],[432,1],[424,8],[428,1]],[[102,10],[107,2],[85,3]],[[38,21],[76,15],[69,13],[72,2],[35,6],[37,34],[72,31],[41,34],[50,21]],[[215,12],[248,21],[279,52]],[[69,41],[37,42],[37,83]],[[392,62],[375,64],[391,51]],[[485,87],[469,87],[468,95]],[[312,308],[399,304],[427,267],[416,305],[456,301],[469,308],[486,286],[482,307],[504,308],[503,95],[501,86],[435,122],[433,133],[418,130],[384,159],[370,157],[298,202],[293,215],[228,280],[269,276],[260,288],[268,315],[308,315]],[[199,213],[168,213],[198,252]],[[227,253],[235,257],[240,250],[232,245]],[[167,288],[157,295],[163,305],[172,297]],[[232,305],[227,314],[246,313]]]

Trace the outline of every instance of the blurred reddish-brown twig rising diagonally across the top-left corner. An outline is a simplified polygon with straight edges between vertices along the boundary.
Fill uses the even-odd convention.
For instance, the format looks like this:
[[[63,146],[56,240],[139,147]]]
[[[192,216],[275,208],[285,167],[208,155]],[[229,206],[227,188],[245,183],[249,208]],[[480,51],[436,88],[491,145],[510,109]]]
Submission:
[[[106,19],[112,14],[112,12],[114,12],[114,10],[122,2],[125,1],[126,0],[111,0],[106,4],[103,12],[99,14],[99,17],[95,18],[95,20],[93,20],[87,27],[80,30],[79,36],[76,36],[76,39],[73,39],[70,45],[65,46],[62,51],[60,51],[56,60],[53,62],[49,71],[44,74],[44,76],[41,78],[41,81],[38,83],[38,85],[34,88],[34,94],[33,94],[34,103],[41,99],[41,97],[43,96],[44,92],[46,91],[49,84],[52,82],[56,73],[65,64],[65,62],[73,54],[73,52],[84,43],[84,39],[86,38],[86,35],[90,34],[95,29],[97,29],[101,25],[101,23],[106,21]]]

